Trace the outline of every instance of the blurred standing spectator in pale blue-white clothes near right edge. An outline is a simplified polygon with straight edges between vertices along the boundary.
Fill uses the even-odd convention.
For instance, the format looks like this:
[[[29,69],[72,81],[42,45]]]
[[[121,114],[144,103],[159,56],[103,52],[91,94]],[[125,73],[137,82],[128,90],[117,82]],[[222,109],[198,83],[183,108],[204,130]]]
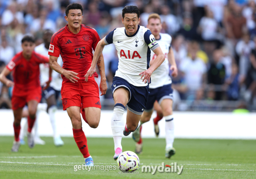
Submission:
[[[246,78],[250,51],[252,51],[252,49],[255,49],[255,43],[250,40],[250,35],[245,33],[243,38],[236,44],[236,53],[239,56],[239,73],[242,75],[242,79]]]

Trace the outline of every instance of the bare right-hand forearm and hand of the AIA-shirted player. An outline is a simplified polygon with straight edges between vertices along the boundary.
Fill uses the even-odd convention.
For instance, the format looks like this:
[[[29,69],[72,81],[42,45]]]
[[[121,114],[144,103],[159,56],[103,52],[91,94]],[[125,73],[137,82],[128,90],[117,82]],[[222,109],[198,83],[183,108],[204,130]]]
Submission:
[[[164,62],[165,59],[164,53],[160,47],[154,49],[153,52],[157,55],[156,59],[154,59],[154,63],[146,71],[139,74],[141,75],[140,79],[145,76],[142,80],[143,82],[145,81],[144,83],[150,80],[152,73]]]

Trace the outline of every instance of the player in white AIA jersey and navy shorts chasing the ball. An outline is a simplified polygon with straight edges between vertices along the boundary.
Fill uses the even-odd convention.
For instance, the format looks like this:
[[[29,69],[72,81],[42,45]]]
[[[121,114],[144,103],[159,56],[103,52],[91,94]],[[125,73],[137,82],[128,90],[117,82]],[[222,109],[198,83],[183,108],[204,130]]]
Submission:
[[[150,76],[164,61],[164,53],[149,29],[139,26],[140,11],[136,6],[125,6],[122,10],[123,28],[116,28],[99,41],[92,65],[85,75],[92,76],[98,57],[105,45],[114,43],[118,51],[118,70],[113,79],[112,92],[115,102],[111,128],[114,138],[114,159],[122,153],[122,134],[128,136],[140,126],[140,117],[148,100]],[[149,67],[150,50],[156,54]],[[144,77],[144,78],[143,78]],[[143,79],[142,79],[143,78]],[[127,104],[126,124],[123,114]]]

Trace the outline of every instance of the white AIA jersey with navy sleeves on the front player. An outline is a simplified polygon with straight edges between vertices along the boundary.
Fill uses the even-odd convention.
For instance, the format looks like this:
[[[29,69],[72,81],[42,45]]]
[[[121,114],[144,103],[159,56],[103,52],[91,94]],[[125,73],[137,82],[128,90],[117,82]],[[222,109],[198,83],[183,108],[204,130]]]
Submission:
[[[115,77],[125,79],[136,87],[147,86],[148,83],[142,82],[139,74],[149,68],[150,49],[153,51],[159,47],[151,31],[138,26],[136,33],[127,35],[125,28],[116,28],[104,41],[107,45],[114,43],[116,46],[119,63]]]

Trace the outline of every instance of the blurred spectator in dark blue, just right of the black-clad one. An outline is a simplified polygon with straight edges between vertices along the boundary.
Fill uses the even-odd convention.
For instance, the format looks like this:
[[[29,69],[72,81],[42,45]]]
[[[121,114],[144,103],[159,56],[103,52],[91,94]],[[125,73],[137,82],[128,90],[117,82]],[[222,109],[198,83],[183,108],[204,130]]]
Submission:
[[[230,78],[226,80],[228,85],[227,95],[228,100],[238,100],[239,98],[239,73],[236,63],[232,63],[232,73]]]

